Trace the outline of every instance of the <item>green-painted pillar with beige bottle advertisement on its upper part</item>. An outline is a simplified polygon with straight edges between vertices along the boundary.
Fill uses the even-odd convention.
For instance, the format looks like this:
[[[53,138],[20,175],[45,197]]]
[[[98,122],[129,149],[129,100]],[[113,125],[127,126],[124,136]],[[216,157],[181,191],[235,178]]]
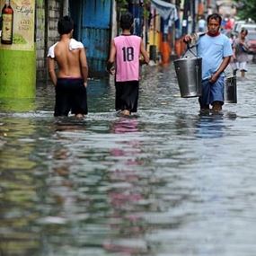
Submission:
[[[5,2],[0,0],[0,9],[4,7]],[[8,8],[6,13],[9,17],[5,16],[7,18],[3,21],[0,43],[0,98],[34,98],[36,87],[35,0],[11,0]],[[13,21],[10,8],[13,10]],[[10,24],[10,21],[13,24]],[[11,35],[8,30],[4,35],[5,28],[12,28]],[[3,40],[6,37],[7,40]],[[12,39],[8,42],[9,37]]]

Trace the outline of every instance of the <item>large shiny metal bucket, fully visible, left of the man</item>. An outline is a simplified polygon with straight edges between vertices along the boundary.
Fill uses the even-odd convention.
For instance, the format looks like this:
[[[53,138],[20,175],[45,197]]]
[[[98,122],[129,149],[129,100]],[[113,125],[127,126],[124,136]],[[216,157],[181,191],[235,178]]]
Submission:
[[[202,94],[202,58],[181,57],[174,60],[181,97],[199,97]]]

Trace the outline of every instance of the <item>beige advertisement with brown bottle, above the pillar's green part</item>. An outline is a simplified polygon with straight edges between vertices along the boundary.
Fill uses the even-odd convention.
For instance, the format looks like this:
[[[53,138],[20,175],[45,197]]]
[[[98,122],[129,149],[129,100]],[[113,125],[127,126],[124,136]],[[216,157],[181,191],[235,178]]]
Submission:
[[[33,50],[35,0],[0,0],[2,35],[0,49]]]

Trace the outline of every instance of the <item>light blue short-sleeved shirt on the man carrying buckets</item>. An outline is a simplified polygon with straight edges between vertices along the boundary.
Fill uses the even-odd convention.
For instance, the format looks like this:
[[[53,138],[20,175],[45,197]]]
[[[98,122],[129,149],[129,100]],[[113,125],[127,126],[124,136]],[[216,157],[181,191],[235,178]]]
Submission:
[[[198,56],[202,57],[202,79],[209,78],[221,65],[223,58],[232,55],[231,42],[224,34],[199,37]]]

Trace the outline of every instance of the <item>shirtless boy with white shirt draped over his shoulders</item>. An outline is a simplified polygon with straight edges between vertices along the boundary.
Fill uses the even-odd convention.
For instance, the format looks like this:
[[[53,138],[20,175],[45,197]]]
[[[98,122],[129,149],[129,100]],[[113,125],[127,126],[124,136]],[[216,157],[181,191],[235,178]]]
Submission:
[[[60,40],[49,48],[48,54],[49,76],[56,90],[54,116],[67,116],[71,110],[75,117],[83,118],[88,112],[88,66],[84,45],[72,39],[74,22],[70,17],[60,18],[57,31]]]

